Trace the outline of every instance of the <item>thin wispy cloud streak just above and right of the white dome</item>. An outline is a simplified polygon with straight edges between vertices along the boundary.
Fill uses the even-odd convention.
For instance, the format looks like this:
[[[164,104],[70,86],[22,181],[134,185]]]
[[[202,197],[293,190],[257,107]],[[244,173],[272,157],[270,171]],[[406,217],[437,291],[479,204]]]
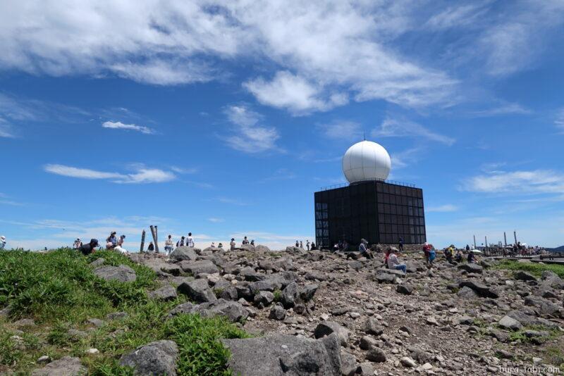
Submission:
[[[452,137],[432,132],[423,125],[410,120],[386,118],[380,127],[372,131],[372,137],[423,137],[431,141],[451,146],[455,143]]]

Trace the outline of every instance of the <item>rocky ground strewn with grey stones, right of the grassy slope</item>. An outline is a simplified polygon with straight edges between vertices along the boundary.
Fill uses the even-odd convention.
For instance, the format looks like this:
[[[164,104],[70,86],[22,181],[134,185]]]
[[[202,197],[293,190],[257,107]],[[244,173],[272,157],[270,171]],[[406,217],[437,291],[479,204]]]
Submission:
[[[525,374],[532,367],[558,373],[564,361],[564,282],[553,272],[537,279],[526,272],[513,275],[489,268],[487,262],[451,265],[441,260],[428,268],[419,253],[412,253],[405,256],[403,275],[383,268],[381,255],[374,260],[348,256],[353,258],[295,247],[271,252],[247,246],[236,251],[180,248],[168,262],[133,258],[192,301],[213,306],[219,298],[215,304],[220,308],[210,312],[225,311],[253,334],[313,339],[335,333],[343,375]],[[196,280],[180,276],[185,272]],[[227,307],[228,301],[245,312],[238,305]],[[257,351],[259,358],[276,358],[276,372],[270,370],[276,374],[284,372],[276,344],[289,339],[273,338],[274,350],[263,343]],[[233,341],[244,347],[245,341],[251,346],[254,340]],[[251,372],[240,368],[250,355],[232,352],[235,371]],[[336,356],[328,353],[329,358]],[[317,370],[312,374],[329,372],[321,372],[323,361],[318,356],[310,362],[316,365],[296,365],[296,372],[304,374],[308,367]]]

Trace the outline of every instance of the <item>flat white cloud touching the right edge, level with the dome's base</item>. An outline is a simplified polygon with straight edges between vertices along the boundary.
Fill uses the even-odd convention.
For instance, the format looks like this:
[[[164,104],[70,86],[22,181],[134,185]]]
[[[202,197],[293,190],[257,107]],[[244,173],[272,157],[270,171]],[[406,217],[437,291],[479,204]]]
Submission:
[[[562,194],[564,175],[553,170],[492,171],[471,177],[460,188],[496,194]]]

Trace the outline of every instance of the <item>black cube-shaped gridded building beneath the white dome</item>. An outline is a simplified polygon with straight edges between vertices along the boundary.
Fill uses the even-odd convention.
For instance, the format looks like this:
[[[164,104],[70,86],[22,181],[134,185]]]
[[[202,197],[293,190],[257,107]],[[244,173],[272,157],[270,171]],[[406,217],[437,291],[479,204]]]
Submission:
[[[422,189],[380,180],[315,192],[318,246],[339,240],[359,244],[422,244],[427,241]]]

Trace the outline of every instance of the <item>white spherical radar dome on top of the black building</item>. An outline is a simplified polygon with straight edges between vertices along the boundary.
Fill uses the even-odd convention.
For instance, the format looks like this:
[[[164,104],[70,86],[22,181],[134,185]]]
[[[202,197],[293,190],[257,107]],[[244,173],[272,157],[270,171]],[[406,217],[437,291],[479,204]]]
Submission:
[[[390,175],[388,151],[372,141],[357,142],[343,156],[343,173],[349,183],[361,180],[386,180]]]

